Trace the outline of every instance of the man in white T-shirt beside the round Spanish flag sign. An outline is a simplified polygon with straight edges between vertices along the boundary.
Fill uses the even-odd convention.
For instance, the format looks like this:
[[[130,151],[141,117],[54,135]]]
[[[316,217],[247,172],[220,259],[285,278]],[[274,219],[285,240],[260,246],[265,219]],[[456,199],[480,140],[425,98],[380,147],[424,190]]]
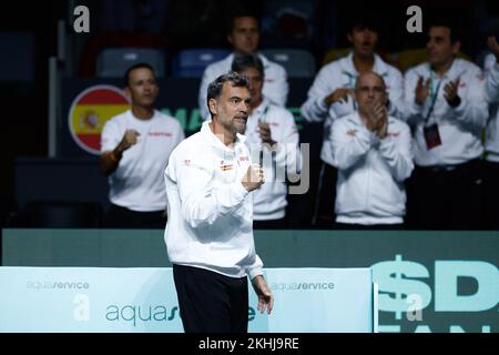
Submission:
[[[184,131],[179,121],[154,110],[160,88],[151,65],[135,64],[124,79],[131,109],[109,120],[101,134],[100,165],[111,200],[104,226],[163,229],[163,171]]]

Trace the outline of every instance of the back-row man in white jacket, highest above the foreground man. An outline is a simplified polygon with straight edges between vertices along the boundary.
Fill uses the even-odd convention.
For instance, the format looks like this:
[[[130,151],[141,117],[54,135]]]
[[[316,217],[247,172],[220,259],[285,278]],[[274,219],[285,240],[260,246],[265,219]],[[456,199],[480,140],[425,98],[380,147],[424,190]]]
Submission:
[[[227,41],[233,47],[233,53],[221,61],[207,65],[201,80],[197,102],[203,120],[210,119],[210,112],[206,106],[206,89],[208,84],[218,75],[225,74],[231,70],[234,55],[256,53],[259,43],[258,20],[253,16],[243,13],[234,16],[231,21]],[[265,82],[263,87],[265,97],[273,104],[285,106],[289,91],[286,70],[281,64],[269,61],[262,54],[258,54],[258,57],[265,69]]]

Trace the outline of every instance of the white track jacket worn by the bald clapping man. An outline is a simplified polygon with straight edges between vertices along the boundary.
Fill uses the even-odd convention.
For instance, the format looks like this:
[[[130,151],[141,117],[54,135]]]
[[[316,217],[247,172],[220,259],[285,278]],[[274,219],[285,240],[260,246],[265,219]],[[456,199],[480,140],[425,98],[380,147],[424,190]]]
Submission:
[[[414,169],[409,126],[388,118],[388,136],[367,130],[357,112],[335,120],[332,149],[338,168],[337,222],[401,223],[406,212],[404,181]]]

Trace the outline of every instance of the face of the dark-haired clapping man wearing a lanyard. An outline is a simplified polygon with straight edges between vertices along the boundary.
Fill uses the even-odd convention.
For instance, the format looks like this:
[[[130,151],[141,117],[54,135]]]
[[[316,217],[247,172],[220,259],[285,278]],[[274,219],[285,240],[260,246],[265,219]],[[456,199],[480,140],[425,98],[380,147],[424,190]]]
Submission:
[[[460,43],[451,43],[450,29],[447,27],[431,27],[428,32],[426,51],[431,65],[445,65],[452,61],[458,53]]]

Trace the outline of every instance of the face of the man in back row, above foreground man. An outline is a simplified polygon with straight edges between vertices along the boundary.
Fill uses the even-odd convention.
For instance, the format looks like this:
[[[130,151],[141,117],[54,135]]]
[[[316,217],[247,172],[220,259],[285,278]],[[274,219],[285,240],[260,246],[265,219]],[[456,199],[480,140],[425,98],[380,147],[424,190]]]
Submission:
[[[227,40],[236,52],[255,52],[259,42],[258,22],[252,17],[235,18]]]

